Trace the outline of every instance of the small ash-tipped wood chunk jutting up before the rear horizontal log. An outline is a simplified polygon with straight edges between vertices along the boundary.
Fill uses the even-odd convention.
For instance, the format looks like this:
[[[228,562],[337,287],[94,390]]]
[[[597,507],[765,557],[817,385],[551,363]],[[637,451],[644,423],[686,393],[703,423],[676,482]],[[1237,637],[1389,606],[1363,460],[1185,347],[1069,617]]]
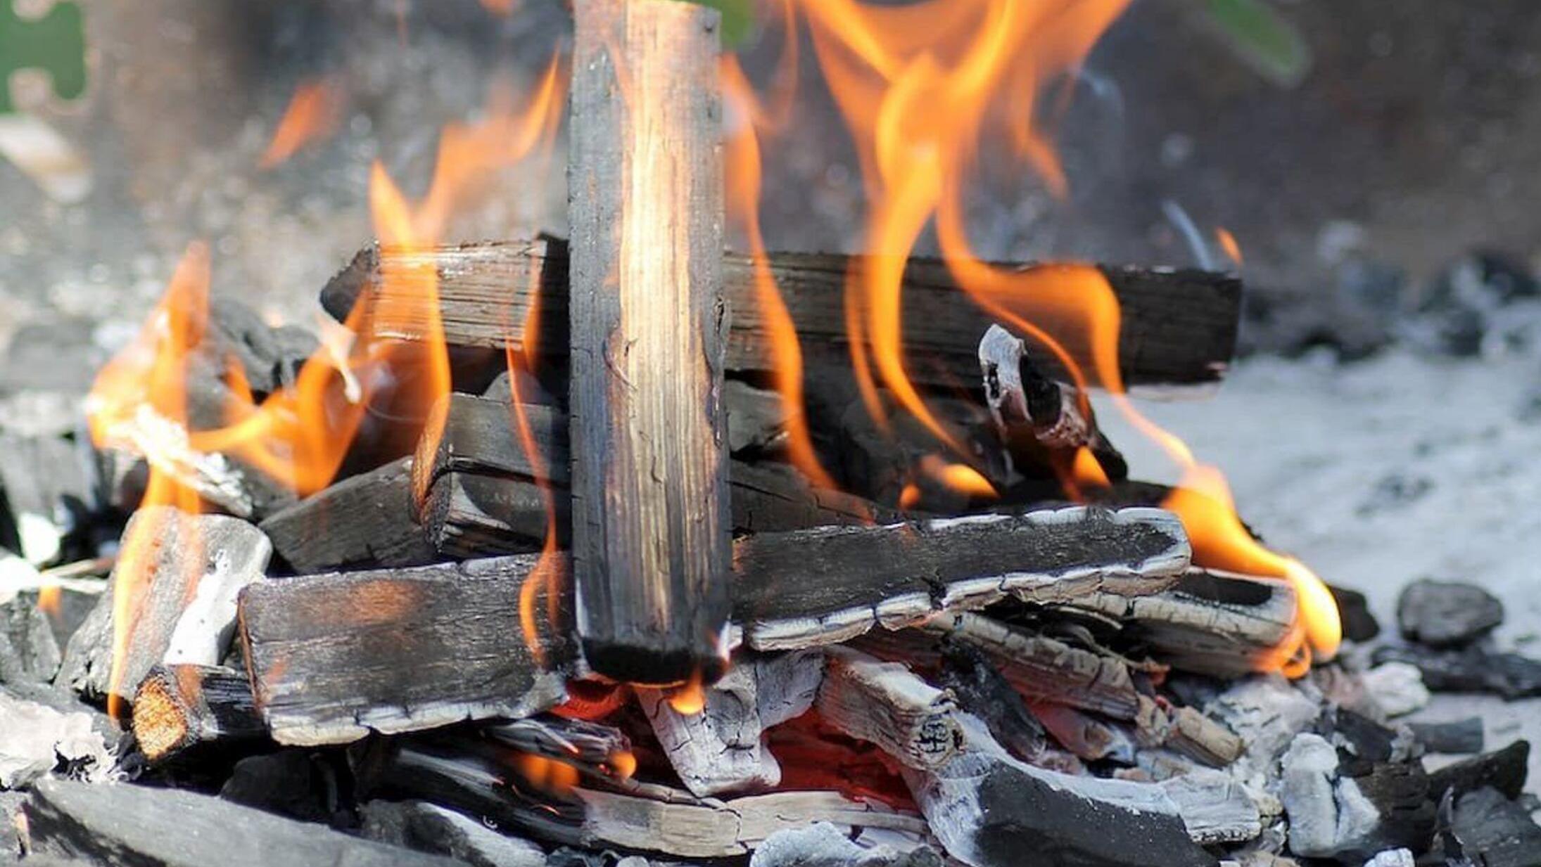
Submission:
[[[1097,428],[1086,396],[1074,385],[1045,376],[1020,337],[991,325],[979,342],[979,367],[985,377],[985,402],[1019,465],[1040,464],[1032,454],[1045,450],[1074,456],[1086,448],[1108,480],[1128,477],[1128,464]]]

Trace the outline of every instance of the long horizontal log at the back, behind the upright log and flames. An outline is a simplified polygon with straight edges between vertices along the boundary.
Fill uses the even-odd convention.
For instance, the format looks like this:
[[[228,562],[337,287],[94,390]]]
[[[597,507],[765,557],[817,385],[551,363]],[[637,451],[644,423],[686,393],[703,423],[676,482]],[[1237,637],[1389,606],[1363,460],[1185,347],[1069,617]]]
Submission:
[[[871,259],[834,254],[775,253],[770,273],[797,326],[803,357],[811,367],[849,365],[844,331],[844,283],[852,268]],[[347,319],[359,299],[370,306],[390,305],[390,322],[373,320],[374,336],[421,339],[427,311],[405,297],[415,283],[393,274],[438,273],[439,308],[445,339],[461,346],[502,346],[516,342],[539,353],[566,353],[567,245],[558,239],[488,242],[435,249],[362,249],[327,283],[321,303],[337,320]],[[1020,269],[1054,265],[1017,265]],[[1119,365],[1133,385],[1202,383],[1217,380],[1236,350],[1241,316],[1241,280],[1193,269],[1102,266],[1122,305]],[[384,279],[382,279],[384,277]],[[730,371],[772,370],[775,354],[769,328],[755,302],[754,263],[746,256],[723,257],[723,291],[732,310],[727,339]],[[512,296],[512,297],[510,297]],[[541,333],[524,334],[532,305],[539,305]],[[969,300],[948,266],[934,259],[911,259],[905,271],[905,346],[922,382],[952,387],[979,377],[979,339],[994,317]],[[1036,319],[1051,333],[1056,322]],[[1065,340],[1077,359],[1086,345]],[[1062,370],[1056,357],[1032,346],[1032,360],[1046,371]],[[1089,365],[1088,365],[1089,367]]]

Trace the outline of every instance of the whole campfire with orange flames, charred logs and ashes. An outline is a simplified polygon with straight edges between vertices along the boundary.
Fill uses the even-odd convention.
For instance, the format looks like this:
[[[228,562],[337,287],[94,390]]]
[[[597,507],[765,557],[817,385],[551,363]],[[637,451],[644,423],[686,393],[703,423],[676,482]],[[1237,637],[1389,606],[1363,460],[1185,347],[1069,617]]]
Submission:
[[[86,400],[77,514],[69,479],[5,477],[0,542],[85,554],[37,593],[69,630],[23,599],[0,634],[29,859],[1518,864],[1455,859],[1533,829],[1524,752],[1430,775],[1470,731],[1388,721],[1502,611],[1424,588],[1424,650],[1339,654],[1364,599],[1130,399],[1220,382],[1239,277],[974,253],[977,151],[1063,191],[1039,119],[1123,3],[772,6],[757,85],[715,9],[576,0],[570,55],[445,129],[422,199],[374,165],[319,337],[210,300],[188,248]],[[761,233],[803,32],[860,254]],[[336,99],[302,88],[264,165]],[[566,237],[448,237],[562,119]],[[1139,480],[1099,413],[1180,482]]]

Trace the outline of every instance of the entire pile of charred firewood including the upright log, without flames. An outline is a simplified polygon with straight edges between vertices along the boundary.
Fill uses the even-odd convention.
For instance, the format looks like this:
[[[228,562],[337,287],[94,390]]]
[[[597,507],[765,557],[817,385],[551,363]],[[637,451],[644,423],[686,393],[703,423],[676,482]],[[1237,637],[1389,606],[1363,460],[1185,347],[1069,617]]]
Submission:
[[[29,668],[0,681],[116,695],[133,711],[125,773],[223,795],[43,781],[32,850],[1204,865],[1268,858],[1285,832],[1350,864],[1432,838],[1439,796],[1351,678],[1254,675],[1294,624],[1290,585],[1196,567],[1165,490],[1128,479],[1056,356],[966,302],[945,265],[908,263],[905,339],[971,454],[943,457],[881,390],[889,423],[868,416],[843,328],[852,257],[770,256],[806,396],[767,390],[752,266],[720,253],[717,14],[579,0],[576,15],[572,243],[371,245],[321,296],[367,339],[425,340],[430,317],[370,313],[411,310],[391,274],[431,266],[455,391],[427,420],[371,416],[342,474],[300,500],[236,456],[200,464],[197,490],[220,497],[131,517],[159,539],[156,577],[103,594],[62,662],[46,630],[6,619],[0,641]],[[1220,377],[1234,277],[1103,273],[1126,382]],[[789,460],[792,419],[838,490]],[[1060,493],[1082,448],[1111,480],[1102,502]],[[94,465],[92,502],[133,502],[134,456]],[[57,499],[6,491],[12,510]],[[1344,707],[1324,715],[1328,698]],[[26,713],[0,704],[0,753]],[[69,742],[111,747],[83,716]],[[26,781],[102,776],[106,759],[48,765],[103,752],[59,744]],[[1356,824],[1335,825],[1345,810]],[[237,844],[214,847],[225,832]]]

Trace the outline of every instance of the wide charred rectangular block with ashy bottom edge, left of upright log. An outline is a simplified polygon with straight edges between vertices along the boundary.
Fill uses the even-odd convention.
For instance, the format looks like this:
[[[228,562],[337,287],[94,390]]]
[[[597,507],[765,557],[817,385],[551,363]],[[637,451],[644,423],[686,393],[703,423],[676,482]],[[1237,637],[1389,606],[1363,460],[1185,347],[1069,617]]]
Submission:
[[[257,710],[280,744],[345,744],[558,704],[573,656],[547,618],[564,559],[536,556],[253,584],[240,641]],[[525,644],[527,582],[538,645]]]

